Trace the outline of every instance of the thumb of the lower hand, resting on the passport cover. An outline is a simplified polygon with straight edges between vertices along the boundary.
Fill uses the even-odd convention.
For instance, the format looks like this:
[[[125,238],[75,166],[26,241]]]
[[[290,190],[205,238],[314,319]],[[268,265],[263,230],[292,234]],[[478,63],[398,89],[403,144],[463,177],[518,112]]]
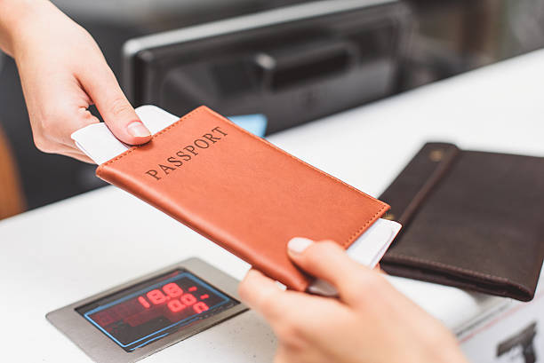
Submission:
[[[379,273],[357,264],[344,249],[332,241],[313,242],[304,238],[293,238],[288,243],[288,254],[292,261],[310,275],[328,281],[347,303],[360,299],[361,290],[374,286]]]

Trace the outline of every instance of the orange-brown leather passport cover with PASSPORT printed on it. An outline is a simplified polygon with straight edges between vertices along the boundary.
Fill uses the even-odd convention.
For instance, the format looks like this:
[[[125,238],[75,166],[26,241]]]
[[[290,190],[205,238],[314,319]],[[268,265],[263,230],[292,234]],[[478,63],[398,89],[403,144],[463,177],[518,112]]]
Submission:
[[[96,174],[299,291],[310,279],[287,256],[292,237],[347,249],[389,208],[207,107]]]

